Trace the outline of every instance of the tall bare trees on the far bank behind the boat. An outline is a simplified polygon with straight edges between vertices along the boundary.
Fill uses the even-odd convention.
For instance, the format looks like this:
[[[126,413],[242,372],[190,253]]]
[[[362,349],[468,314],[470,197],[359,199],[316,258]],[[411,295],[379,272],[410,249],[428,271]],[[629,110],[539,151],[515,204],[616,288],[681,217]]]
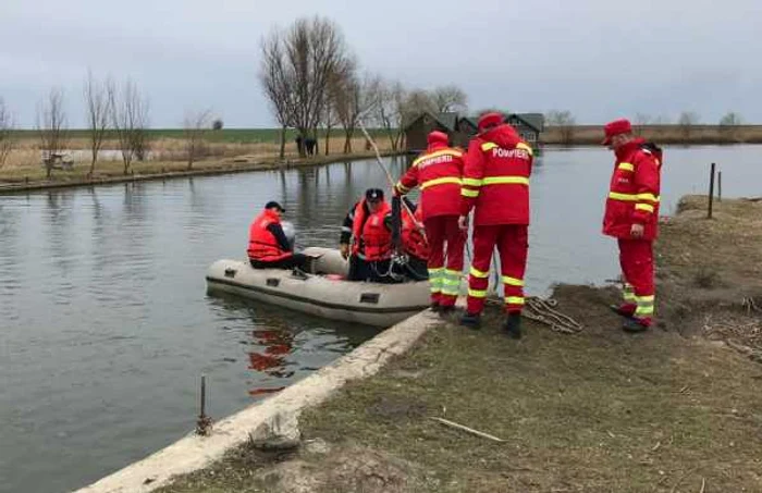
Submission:
[[[455,86],[431,91],[405,88],[371,73],[360,74],[357,58],[334,22],[299,19],[275,29],[261,41],[259,78],[272,113],[281,126],[281,159],[286,130],[317,138],[325,130],[325,153],[331,130],[344,132],[344,152],[360,125],[381,128],[392,149],[402,146],[404,123],[421,111],[462,111],[466,94]],[[299,149],[304,155],[304,149]]]

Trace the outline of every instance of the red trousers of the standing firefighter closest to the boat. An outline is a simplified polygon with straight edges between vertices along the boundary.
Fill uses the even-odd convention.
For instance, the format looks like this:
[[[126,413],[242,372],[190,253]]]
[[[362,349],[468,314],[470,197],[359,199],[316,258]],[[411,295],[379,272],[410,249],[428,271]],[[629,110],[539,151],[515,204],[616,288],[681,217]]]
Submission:
[[[431,303],[453,306],[460,287],[463,250],[466,233],[457,225],[457,215],[437,215],[423,221],[426,238],[431,247],[429,256],[429,284]],[[446,247],[445,247],[446,244]],[[445,248],[447,263],[445,266]]]

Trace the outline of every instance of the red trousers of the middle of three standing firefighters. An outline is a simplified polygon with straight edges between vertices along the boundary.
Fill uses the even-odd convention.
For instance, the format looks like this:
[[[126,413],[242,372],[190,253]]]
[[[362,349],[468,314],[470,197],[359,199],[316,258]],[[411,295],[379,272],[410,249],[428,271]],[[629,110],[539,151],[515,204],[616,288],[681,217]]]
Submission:
[[[474,226],[474,262],[468,276],[469,313],[481,313],[490,282],[492,250],[497,247],[501,273],[505,287],[505,309],[521,312],[524,308],[524,272],[529,249],[526,224]]]

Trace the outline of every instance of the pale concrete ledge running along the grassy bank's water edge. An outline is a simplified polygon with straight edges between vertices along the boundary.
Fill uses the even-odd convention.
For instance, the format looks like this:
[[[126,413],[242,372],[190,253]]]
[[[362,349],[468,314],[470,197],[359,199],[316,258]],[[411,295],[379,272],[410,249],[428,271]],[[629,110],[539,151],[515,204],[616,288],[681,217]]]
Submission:
[[[325,400],[345,383],[377,373],[391,357],[405,353],[439,322],[439,317],[428,310],[410,317],[280,394],[214,423],[210,436],[188,435],[77,493],[146,493],[171,483],[174,476],[202,469],[245,443],[248,433],[261,423],[283,414],[298,415]]]

